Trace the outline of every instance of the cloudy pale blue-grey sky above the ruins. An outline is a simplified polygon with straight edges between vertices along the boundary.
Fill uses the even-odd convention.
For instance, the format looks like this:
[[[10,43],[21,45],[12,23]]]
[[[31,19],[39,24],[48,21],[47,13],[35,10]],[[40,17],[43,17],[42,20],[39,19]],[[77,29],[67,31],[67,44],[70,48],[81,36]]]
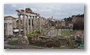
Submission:
[[[63,19],[72,15],[84,14],[84,4],[31,3],[4,4],[4,16],[18,17],[16,10],[30,8],[45,18]]]

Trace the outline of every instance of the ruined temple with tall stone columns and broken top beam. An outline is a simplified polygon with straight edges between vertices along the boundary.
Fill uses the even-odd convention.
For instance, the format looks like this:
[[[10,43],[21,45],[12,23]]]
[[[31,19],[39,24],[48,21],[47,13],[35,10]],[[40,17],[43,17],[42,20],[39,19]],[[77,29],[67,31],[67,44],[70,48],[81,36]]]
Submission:
[[[26,34],[35,32],[36,27],[41,32],[41,16],[37,13],[34,13],[30,8],[26,8],[25,10],[23,9],[16,10],[16,11],[18,15],[18,28],[19,28],[18,36],[24,38],[25,43],[29,44]],[[23,20],[22,26],[21,26],[21,20]],[[21,34],[21,27],[23,27],[23,35]],[[20,38],[18,40],[20,40]]]

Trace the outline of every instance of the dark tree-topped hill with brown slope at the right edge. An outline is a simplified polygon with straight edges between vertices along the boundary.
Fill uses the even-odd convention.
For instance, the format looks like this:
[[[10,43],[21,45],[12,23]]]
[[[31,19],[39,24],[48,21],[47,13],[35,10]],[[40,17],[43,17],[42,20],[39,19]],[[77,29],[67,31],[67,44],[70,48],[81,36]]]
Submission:
[[[64,18],[65,22],[73,23],[73,30],[84,30],[84,14],[73,15],[69,18]]]

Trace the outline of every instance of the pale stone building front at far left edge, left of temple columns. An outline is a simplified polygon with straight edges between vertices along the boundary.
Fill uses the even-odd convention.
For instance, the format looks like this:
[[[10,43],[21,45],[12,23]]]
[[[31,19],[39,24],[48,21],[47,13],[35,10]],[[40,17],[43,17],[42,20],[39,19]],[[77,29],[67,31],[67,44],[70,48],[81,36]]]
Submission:
[[[4,17],[4,35],[13,35],[13,21],[11,17]]]

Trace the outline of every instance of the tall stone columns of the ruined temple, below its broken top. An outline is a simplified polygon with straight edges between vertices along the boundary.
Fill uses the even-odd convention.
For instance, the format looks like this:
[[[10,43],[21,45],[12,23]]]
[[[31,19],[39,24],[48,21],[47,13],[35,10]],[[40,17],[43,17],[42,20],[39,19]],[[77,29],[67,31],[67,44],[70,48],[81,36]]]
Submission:
[[[27,15],[26,15],[26,17],[25,17],[25,15],[22,15],[22,16],[23,16],[23,31],[24,31],[24,35],[26,33],[27,34],[32,33],[34,31],[33,29],[35,29],[35,26],[36,26],[36,24],[34,23],[35,22],[35,16],[27,16]],[[18,18],[19,18],[18,19],[18,21],[19,21],[19,34],[21,34],[21,15],[18,15]],[[29,21],[29,19],[30,19],[30,21]],[[32,20],[33,20],[33,22],[32,22]],[[30,22],[30,25],[29,25],[29,22]],[[34,27],[32,27],[32,24],[34,24]],[[39,29],[41,31],[41,19],[40,19],[40,17],[39,17]]]

